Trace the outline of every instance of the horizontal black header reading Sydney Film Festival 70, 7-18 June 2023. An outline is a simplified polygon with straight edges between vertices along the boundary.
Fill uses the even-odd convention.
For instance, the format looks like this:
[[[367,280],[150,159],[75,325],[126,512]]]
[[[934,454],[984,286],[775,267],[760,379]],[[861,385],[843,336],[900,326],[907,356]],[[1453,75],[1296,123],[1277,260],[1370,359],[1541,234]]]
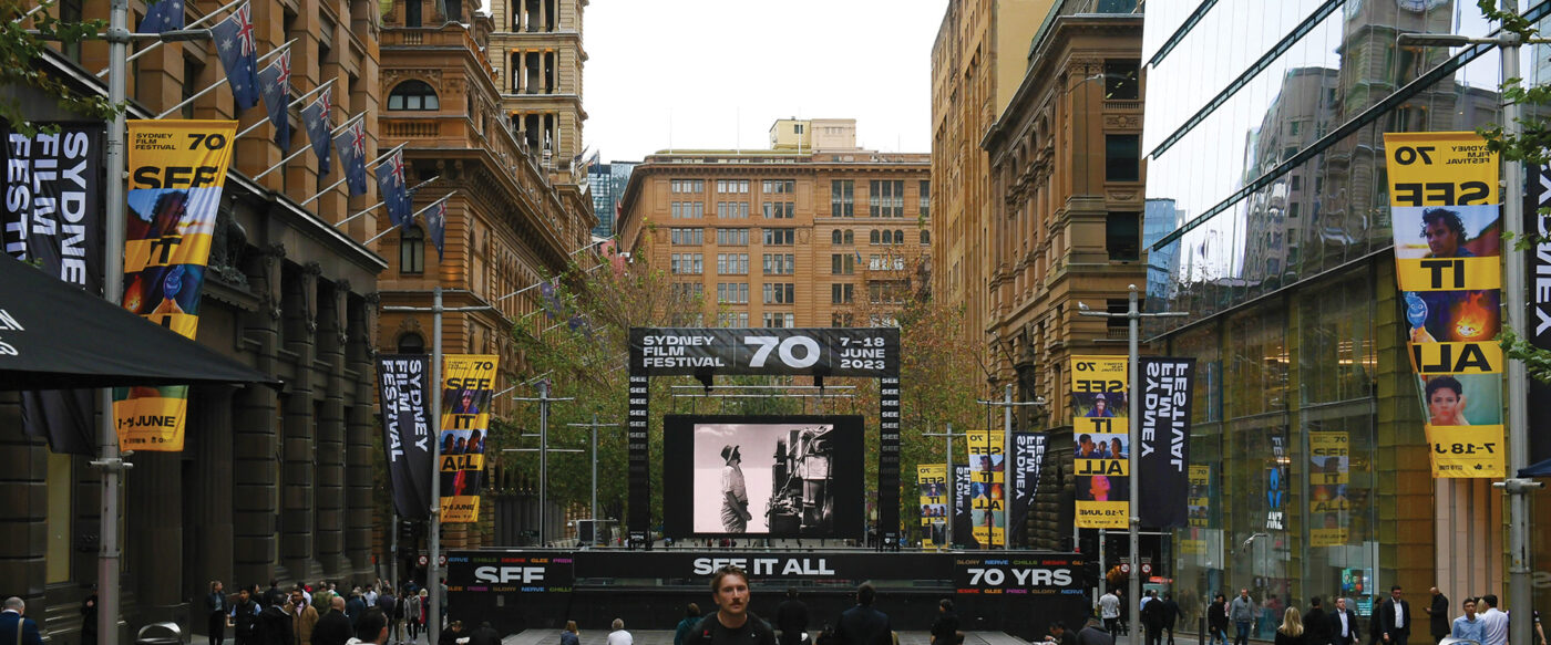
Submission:
[[[634,327],[630,374],[883,378],[900,374],[900,330]]]

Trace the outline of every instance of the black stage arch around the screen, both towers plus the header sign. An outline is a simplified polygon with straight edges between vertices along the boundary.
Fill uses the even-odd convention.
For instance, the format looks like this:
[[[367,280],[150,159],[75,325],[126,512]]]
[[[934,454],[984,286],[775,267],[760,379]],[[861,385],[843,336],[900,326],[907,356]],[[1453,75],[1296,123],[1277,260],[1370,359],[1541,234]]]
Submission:
[[[630,473],[630,547],[651,549],[651,408],[655,375],[690,375],[707,388],[718,375],[878,378],[878,543],[898,549],[900,329],[633,327],[625,429]]]

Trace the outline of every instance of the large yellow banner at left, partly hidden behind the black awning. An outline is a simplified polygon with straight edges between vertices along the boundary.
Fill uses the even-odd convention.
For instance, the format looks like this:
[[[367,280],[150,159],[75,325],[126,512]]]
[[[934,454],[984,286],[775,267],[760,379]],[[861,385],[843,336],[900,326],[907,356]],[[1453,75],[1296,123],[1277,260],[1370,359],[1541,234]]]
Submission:
[[[236,121],[129,121],[124,309],[188,338],[236,133]],[[113,389],[119,450],[181,451],[186,412],[188,386]]]

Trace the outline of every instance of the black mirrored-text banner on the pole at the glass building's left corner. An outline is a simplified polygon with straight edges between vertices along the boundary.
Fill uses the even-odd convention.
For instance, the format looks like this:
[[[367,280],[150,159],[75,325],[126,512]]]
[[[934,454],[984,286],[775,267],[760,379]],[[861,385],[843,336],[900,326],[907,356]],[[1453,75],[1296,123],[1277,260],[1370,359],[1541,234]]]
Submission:
[[[1143,357],[1138,381],[1142,419],[1140,481],[1142,526],[1183,527],[1190,498],[1190,408],[1194,358]]]

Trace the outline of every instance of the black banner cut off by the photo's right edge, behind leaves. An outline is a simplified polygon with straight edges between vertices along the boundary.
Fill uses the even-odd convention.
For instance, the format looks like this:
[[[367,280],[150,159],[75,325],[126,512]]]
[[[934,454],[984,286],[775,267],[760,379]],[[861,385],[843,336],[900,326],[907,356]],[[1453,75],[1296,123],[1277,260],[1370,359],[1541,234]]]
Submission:
[[[1529,262],[1526,274],[1551,276],[1551,216],[1540,214],[1542,208],[1551,208],[1551,167],[1525,166],[1525,172],[1528,175],[1528,186],[1525,189],[1525,233],[1539,236],[1534,253],[1525,253],[1525,260]],[[1504,242],[1517,243],[1517,240]],[[1551,349],[1551,326],[1543,324],[1543,321],[1551,321],[1551,290],[1531,288],[1529,296],[1529,312],[1525,316],[1528,340],[1539,349]],[[1548,398],[1551,398],[1551,385],[1529,378],[1529,400],[1509,402],[1509,405],[1528,405],[1529,426],[1548,428],[1551,426],[1551,406],[1529,403]],[[1529,433],[1529,464],[1546,459],[1551,459],[1551,433]],[[1517,474],[1509,473],[1509,476]]]

